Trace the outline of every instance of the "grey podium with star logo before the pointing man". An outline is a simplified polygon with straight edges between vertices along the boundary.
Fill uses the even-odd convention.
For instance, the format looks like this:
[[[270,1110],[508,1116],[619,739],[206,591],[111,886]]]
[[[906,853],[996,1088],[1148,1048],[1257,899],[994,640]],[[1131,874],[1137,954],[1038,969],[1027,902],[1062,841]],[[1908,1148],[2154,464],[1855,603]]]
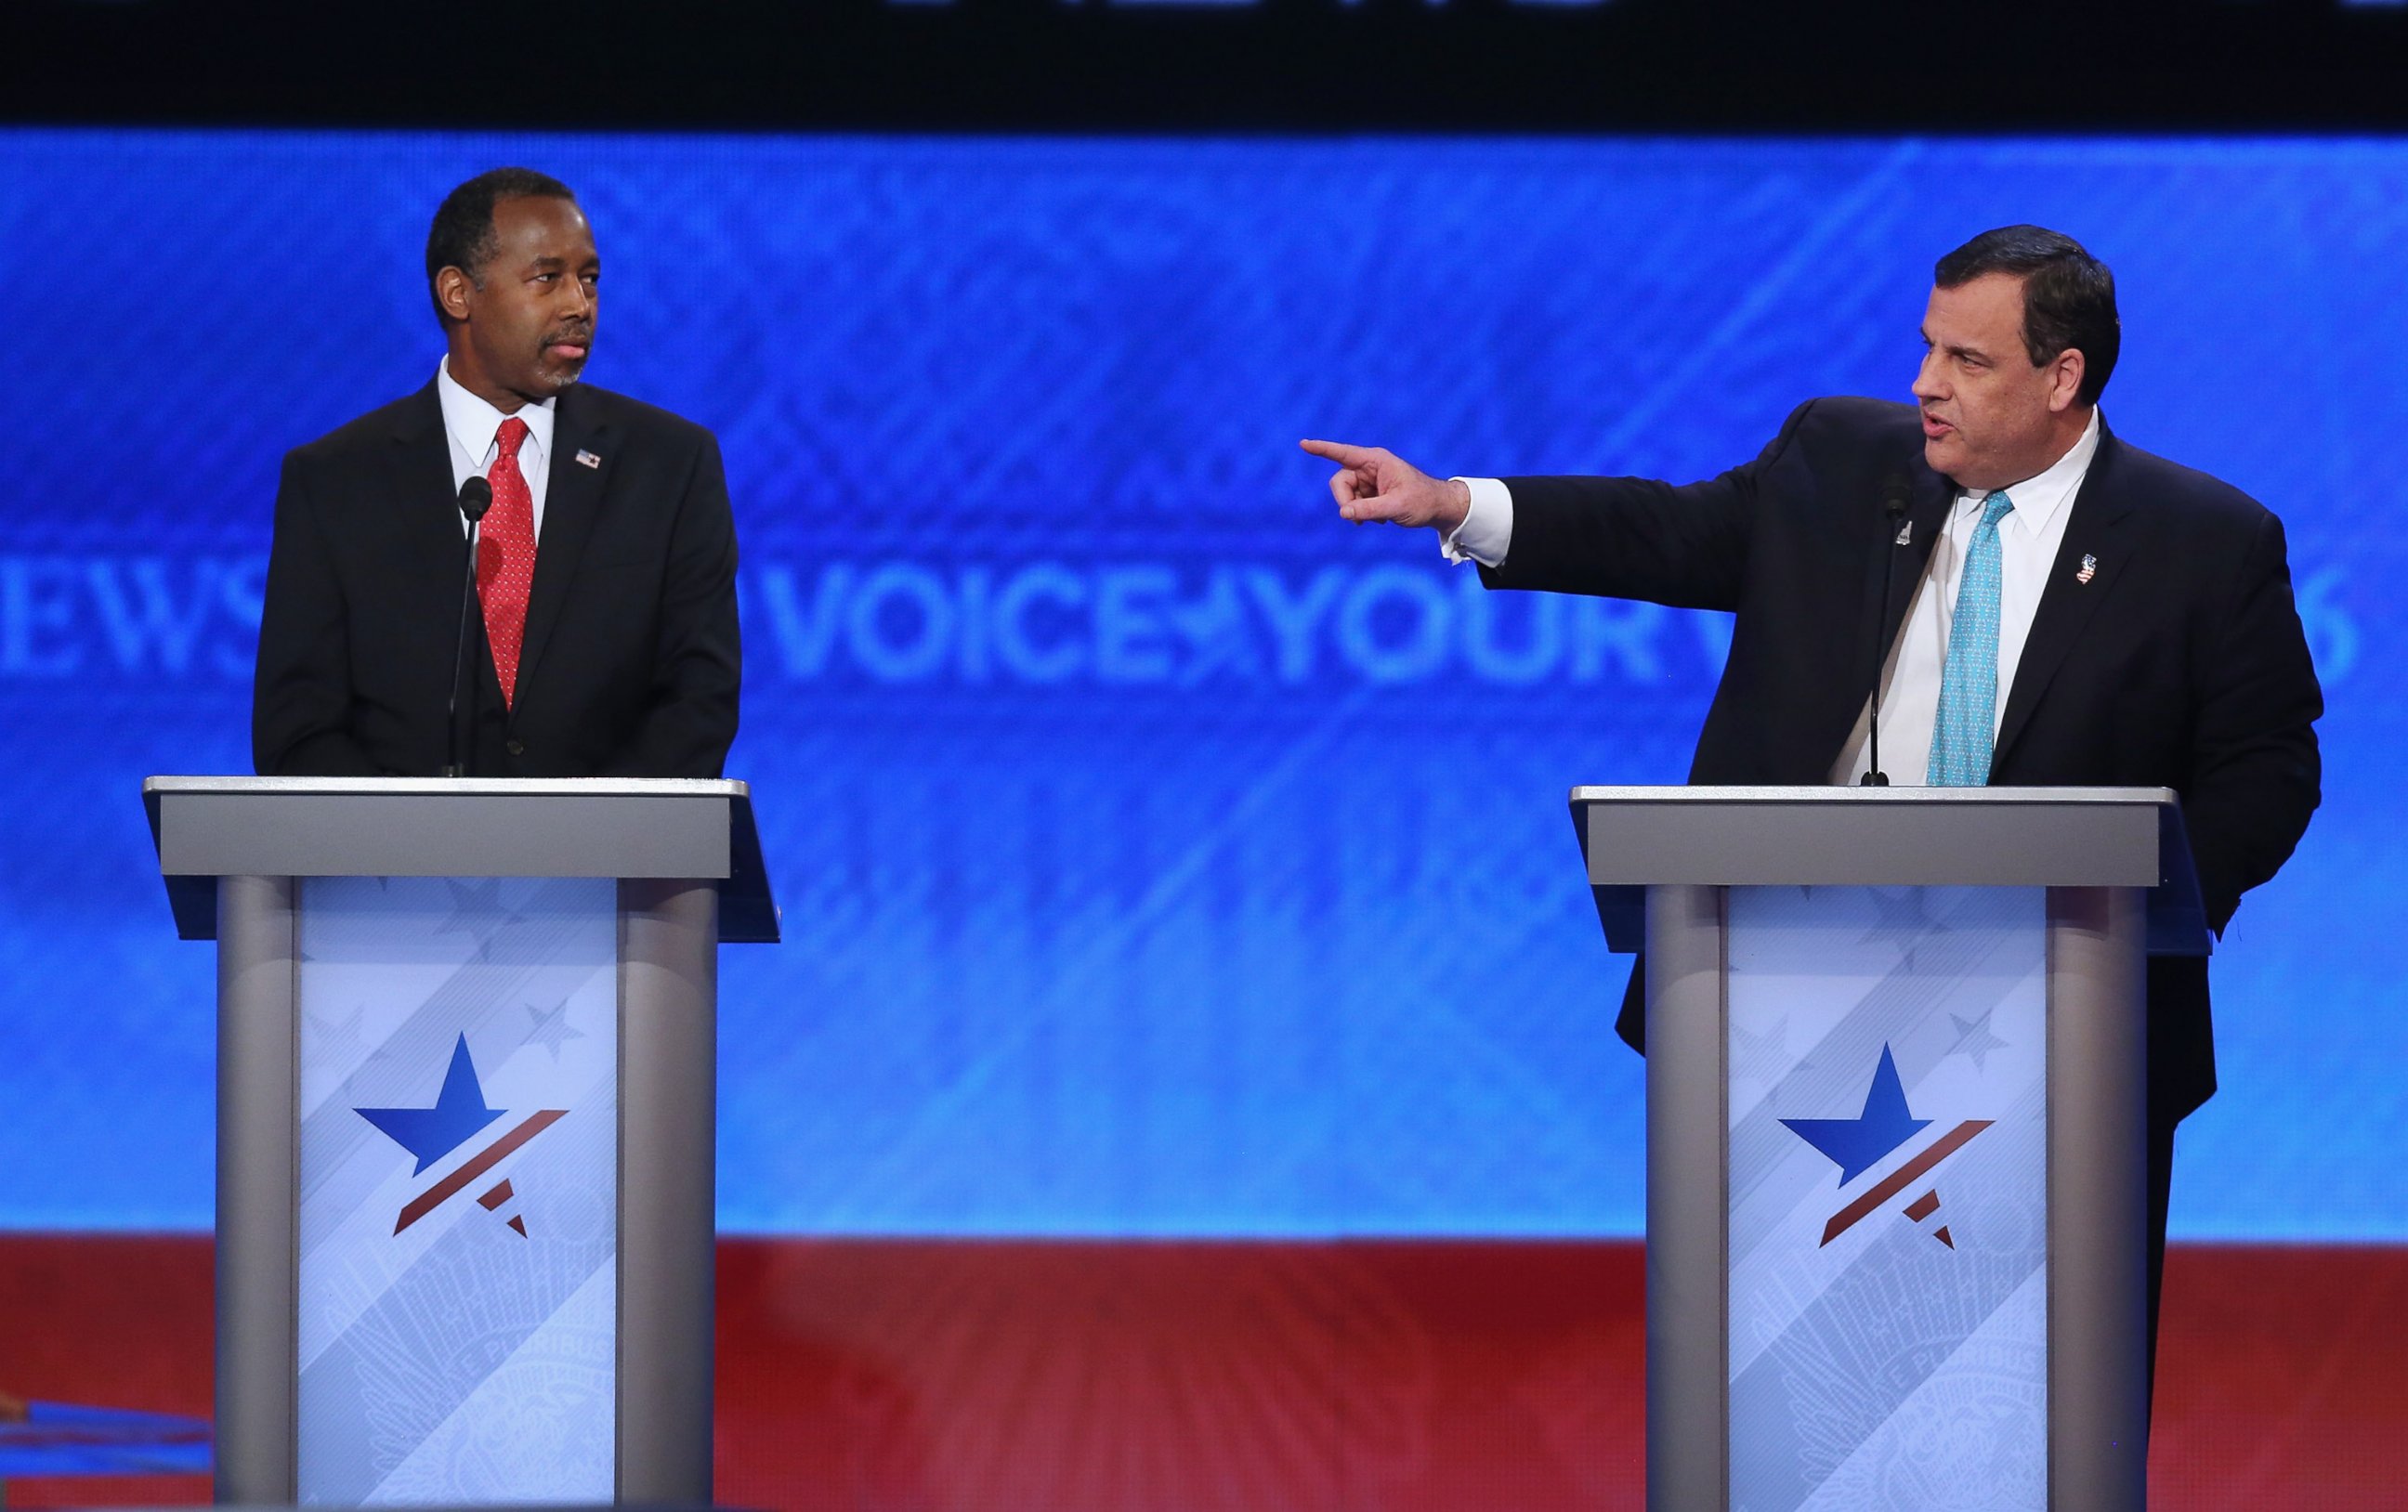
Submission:
[[[2148,787],[1575,787],[1645,951],[1647,1505],[2148,1495]]]

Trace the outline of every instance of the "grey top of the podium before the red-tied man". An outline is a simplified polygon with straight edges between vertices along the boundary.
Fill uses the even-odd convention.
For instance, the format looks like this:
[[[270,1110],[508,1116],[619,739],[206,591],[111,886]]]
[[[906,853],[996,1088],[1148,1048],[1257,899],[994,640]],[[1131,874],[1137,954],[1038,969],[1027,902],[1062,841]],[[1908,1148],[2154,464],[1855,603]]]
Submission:
[[[219,876],[669,876],[720,884],[720,939],[775,941],[751,787],[696,778],[147,778],[176,929]]]

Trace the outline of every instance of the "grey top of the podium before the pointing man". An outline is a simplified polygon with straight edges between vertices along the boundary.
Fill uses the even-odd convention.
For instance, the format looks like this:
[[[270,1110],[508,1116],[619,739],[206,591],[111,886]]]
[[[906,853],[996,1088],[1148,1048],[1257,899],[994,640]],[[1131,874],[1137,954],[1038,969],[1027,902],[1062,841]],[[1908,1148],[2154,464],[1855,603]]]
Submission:
[[[1613,949],[1654,884],[2129,886],[2150,949],[2206,953],[2172,787],[1575,787],[1572,823]]]

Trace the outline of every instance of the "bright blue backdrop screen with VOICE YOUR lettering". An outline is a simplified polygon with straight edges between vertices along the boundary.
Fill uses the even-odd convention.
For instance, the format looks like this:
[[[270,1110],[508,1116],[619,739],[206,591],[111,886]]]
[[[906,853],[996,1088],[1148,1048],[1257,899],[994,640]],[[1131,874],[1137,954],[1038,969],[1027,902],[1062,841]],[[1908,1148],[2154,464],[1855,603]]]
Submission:
[[[787,917],[722,978],[732,1230],[1628,1235],[1563,797],[1678,780],[1714,616],[1483,595],[1298,436],[1702,477],[1905,397],[1931,260],[2119,274],[2117,431],[2290,525],[2326,807],[2215,963],[2177,1235],[2408,1238],[2408,144],[0,135],[0,1223],[209,1221],[212,961],[147,773],[248,770],[279,455],[433,373],[441,193],[602,248],[713,426]]]

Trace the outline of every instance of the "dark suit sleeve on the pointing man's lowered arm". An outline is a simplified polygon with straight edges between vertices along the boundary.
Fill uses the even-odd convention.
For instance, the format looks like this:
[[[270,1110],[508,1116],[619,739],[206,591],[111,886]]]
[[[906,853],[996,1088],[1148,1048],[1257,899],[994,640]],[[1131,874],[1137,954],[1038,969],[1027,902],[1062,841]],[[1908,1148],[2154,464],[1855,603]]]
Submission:
[[[2191,785],[2182,795],[2208,922],[2223,932],[2247,888],[2276,874],[2316,811],[2324,713],[2290,595],[2283,522],[2259,520],[2215,655],[2201,667]]]

